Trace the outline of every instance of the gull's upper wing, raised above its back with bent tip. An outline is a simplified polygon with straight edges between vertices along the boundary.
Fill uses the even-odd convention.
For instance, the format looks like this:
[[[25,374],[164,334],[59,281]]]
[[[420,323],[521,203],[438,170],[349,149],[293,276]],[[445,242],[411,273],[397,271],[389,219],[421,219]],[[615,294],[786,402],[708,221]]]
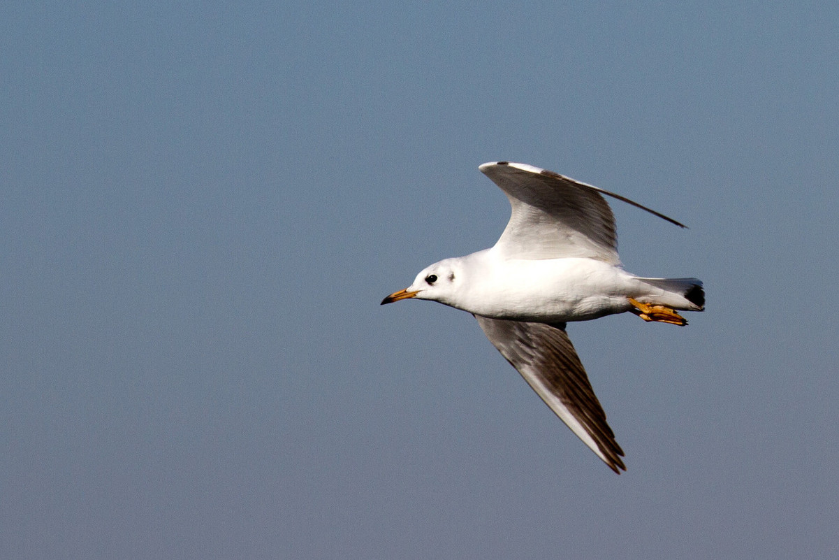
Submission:
[[[532,165],[498,161],[479,169],[510,200],[513,213],[493,250],[511,259],[586,257],[618,264],[612,196],[684,228],[638,202]]]

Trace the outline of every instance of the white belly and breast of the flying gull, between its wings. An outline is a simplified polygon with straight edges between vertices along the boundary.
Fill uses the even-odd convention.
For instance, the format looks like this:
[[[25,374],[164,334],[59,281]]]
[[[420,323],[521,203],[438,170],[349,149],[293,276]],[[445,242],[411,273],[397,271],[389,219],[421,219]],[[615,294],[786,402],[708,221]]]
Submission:
[[[484,272],[462,307],[483,317],[587,321],[630,308],[634,277],[599,260],[505,260]]]

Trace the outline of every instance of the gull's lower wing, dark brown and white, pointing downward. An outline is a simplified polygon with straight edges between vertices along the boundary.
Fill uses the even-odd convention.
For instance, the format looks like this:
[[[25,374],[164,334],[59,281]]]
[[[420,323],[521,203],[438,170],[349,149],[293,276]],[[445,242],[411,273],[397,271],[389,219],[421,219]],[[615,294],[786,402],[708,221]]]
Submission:
[[[489,341],[591,451],[618,474],[623,450],[565,332],[565,323],[505,321],[475,316]]]

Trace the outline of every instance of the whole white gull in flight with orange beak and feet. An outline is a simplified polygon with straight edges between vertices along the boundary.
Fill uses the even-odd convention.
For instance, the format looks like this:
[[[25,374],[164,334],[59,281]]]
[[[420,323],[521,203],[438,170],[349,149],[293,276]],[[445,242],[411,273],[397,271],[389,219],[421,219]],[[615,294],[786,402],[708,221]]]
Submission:
[[[565,325],[629,311],[647,322],[684,326],[687,321],[676,310],[703,311],[701,280],[642,278],[623,270],[614,216],[603,195],[685,225],[624,196],[532,165],[496,161],[478,169],[512,207],[498,243],[431,264],[381,305],[414,298],[472,313],[550,410],[621,474],[623,449]]]

